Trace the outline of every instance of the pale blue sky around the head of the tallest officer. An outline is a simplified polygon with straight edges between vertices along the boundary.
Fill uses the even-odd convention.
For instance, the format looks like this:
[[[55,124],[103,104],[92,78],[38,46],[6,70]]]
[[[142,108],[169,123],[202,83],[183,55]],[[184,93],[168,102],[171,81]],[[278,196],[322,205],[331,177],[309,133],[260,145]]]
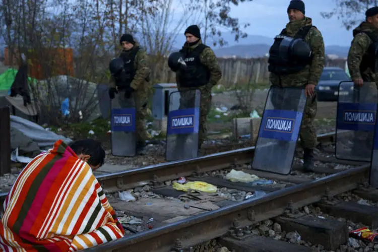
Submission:
[[[287,7],[289,0],[253,0],[232,7],[231,14],[239,18],[239,23],[250,23],[245,32],[253,35],[274,37],[288,22]],[[321,12],[330,12],[336,6],[333,0],[304,0],[305,15],[322,32],[326,45],[349,46],[352,30],[347,31],[337,17],[324,19]],[[177,10],[178,11],[178,10]],[[175,15],[178,15],[176,12]],[[364,16],[361,16],[364,18]]]

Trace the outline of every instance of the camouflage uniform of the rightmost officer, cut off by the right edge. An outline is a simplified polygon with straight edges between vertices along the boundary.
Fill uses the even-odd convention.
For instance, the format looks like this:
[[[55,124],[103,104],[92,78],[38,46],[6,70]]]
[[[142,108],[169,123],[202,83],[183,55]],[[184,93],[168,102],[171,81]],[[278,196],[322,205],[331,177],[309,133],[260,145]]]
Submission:
[[[378,36],[378,29],[375,28],[372,24],[368,22],[362,22],[358,27],[356,27],[353,30],[353,40],[351,43],[351,46],[349,48],[348,52],[348,70],[349,74],[352,80],[362,78],[362,80],[365,82],[375,82],[375,70],[371,69],[369,67],[362,69],[361,72],[361,65],[366,64],[367,62],[363,62],[362,57],[366,54],[368,54],[369,46],[373,43],[373,41],[369,38],[369,36],[364,32],[370,32],[374,34],[374,36]],[[374,85],[370,85],[370,88],[374,88]],[[376,89],[369,92],[369,89],[361,89],[363,93],[359,94],[359,98],[355,97],[355,102],[359,102],[357,99],[361,100],[372,100],[374,97],[371,97],[371,95],[375,96],[376,99]],[[366,147],[367,149],[371,149],[373,139],[373,132],[354,132],[354,139],[353,143],[356,143],[353,145],[352,148],[352,154],[361,156],[361,155],[370,155],[370,153],[367,153],[366,149],[363,147]],[[358,142],[365,142],[366,146],[361,146],[361,143],[357,144]],[[368,157],[367,157],[368,158]]]

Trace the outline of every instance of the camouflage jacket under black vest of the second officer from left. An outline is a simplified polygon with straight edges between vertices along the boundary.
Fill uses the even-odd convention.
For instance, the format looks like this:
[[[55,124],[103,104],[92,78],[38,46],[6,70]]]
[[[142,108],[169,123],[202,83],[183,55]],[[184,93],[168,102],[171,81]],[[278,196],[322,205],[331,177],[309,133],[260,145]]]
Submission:
[[[199,44],[202,44],[202,40],[200,40],[197,44],[195,44],[193,46],[189,46],[185,42],[183,48],[194,49]],[[221,72],[219,64],[218,64],[218,59],[215,56],[213,49],[208,47],[208,48],[205,48],[201,52],[200,60],[201,60],[201,63],[204,64],[210,70],[210,80],[209,80],[209,83],[207,84],[207,88],[211,89],[222,78],[222,72]],[[178,81],[178,74],[177,73],[176,73],[176,83],[177,83],[177,87],[180,87],[180,83]]]

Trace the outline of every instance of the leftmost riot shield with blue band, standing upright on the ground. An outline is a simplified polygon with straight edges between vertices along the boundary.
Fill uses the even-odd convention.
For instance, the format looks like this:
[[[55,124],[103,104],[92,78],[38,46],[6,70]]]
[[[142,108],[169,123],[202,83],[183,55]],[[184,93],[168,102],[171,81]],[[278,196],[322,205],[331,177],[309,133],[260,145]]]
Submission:
[[[135,131],[136,109],[134,97],[124,97],[124,92],[115,94],[111,100],[111,153],[113,156],[134,157],[137,152]]]

